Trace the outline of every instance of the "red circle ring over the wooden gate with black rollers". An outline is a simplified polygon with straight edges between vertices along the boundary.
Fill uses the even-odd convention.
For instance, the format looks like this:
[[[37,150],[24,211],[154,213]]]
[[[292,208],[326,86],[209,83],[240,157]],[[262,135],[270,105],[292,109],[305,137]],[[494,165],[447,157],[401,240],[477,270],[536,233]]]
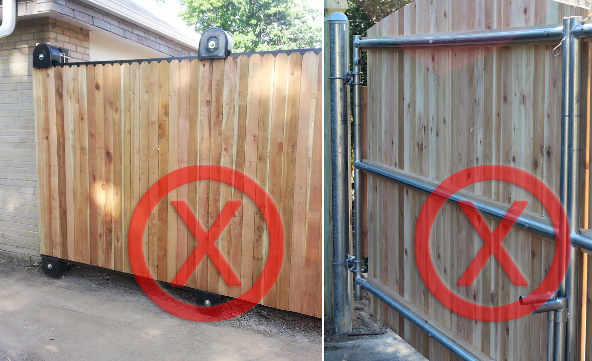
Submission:
[[[268,259],[253,286],[238,298],[211,307],[188,304],[160,288],[148,268],[143,247],[144,230],[158,202],[179,186],[199,180],[213,180],[243,192],[259,208],[269,234]],[[249,311],[274,286],[284,261],[284,225],[271,196],[249,176],[223,166],[189,166],[163,176],[142,196],[131,215],[128,255],[131,270],[138,285],[162,310],[188,321],[223,321]]]

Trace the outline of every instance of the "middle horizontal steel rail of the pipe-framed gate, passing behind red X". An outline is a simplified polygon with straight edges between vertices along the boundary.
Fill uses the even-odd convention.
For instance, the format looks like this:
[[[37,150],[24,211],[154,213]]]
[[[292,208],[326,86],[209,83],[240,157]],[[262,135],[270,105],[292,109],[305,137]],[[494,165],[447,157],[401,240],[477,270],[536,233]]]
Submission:
[[[408,188],[416,189],[416,191],[431,194],[433,191],[436,190],[436,187],[433,185],[422,183],[416,179],[411,179],[406,176],[395,174],[389,172],[388,170],[369,165],[367,163],[364,163],[363,160],[356,161],[354,163],[354,166],[356,167],[356,169],[362,170],[363,172],[381,176],[382,178],[392,180],[393,182],[407,186]],[[448,198],[448,202],[454,204],[457,204],[459,201],[472,201],[475,207],[481,212],[481,214],[497,218],[498,220],[503,219],[507,212],[506,209],[496,208],[491,205],[484,204],[482,202],[475,201],[474,199],[466,198],[465,196],[461,196],[458,194],[453,194],[450,198]],[[535,233],[541,234],[542,236],[555,238],[555,230],[552,227],[552,225],[537,220],[533,220],[531,218],[527,218],[524,216],[520,216],[515,224],[520,228],[533,231]],[[571,233],[571,242],[572,246],[580,247],[584,252],[592,254],[592,238],[588,238],[574,231]]]

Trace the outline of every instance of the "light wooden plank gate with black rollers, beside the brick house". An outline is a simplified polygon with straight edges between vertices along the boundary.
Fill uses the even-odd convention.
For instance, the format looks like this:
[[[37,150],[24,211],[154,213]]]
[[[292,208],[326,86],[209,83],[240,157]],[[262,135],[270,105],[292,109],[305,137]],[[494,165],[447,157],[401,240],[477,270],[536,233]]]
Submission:
[[[128,226],[144,192],[181,167],[230,167],[271,195],[284,224],[282,270],[261,303],[321,317],[321,60],[293,51],[34,69],[41,254],[129,273]],[[227,201],[243,202],[216,243],[242,286],[208,257],[187,285],[234,297],[250,288],[267,229],[247,196],[209,181],[175,189],[150,215],[154,278],[172,281],[196,244],[176,199],[206,230]]]

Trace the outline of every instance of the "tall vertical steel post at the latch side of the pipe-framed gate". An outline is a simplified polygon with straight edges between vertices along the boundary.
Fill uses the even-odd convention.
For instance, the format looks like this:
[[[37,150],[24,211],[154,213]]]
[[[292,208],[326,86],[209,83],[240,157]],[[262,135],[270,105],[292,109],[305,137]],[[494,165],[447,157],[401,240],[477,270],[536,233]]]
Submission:
[[[562,49],[561,180],[559,200],[567,213],[571,231],[580,229],[580,82],[582,51],[582,40],[572,33],[571,29],[581,20],[581,17],[570,17],[564,18],[563,21],[565,41]],[[560,361],[571,361],[577,357],[577,247],[571,247],[570,256],[565,280],[558,290],[559,297],[567,298],[567,314],[562,311],[555,312],[555,359]],[[565,353],[562,353],[562,347],[565,347]]]

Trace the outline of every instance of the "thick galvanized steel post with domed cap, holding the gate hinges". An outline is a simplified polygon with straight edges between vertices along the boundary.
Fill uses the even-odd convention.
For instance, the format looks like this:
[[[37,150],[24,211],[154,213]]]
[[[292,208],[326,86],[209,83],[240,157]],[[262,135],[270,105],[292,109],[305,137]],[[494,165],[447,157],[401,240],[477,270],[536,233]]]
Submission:
[[[333,293],[335,331],[352,330],[352,305],[349,295],[348,248],[349,202],[351,180],[349,170],[348,92],[345,75],[348,71],[349,21],[342,12],[329,17],[329,85],[331,114],[331,185],[333,207]]]

